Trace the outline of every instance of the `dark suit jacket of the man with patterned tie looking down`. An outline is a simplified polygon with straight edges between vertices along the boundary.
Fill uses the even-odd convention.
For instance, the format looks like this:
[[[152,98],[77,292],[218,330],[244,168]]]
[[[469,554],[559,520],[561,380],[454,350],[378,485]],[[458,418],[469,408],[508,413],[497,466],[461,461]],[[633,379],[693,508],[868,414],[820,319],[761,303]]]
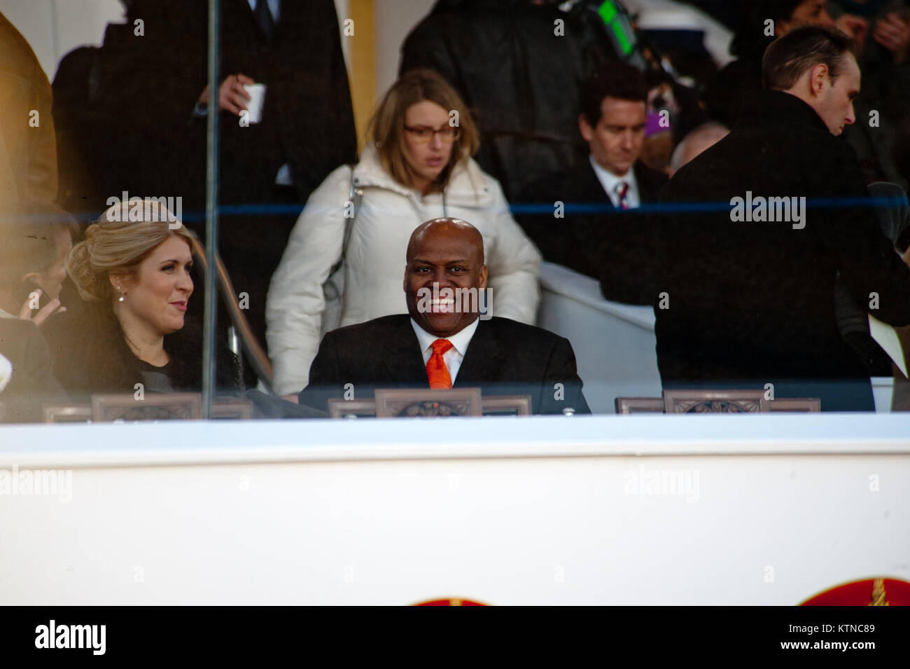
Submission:
[[[642,162],[632,170],[642,205],[655,205],[667,176]],[[557,201],[563,218],[554,218]],[[606,299],[652,303],[655,222],[647,207],[613,207],[590,160],[531,186],[519,208],[532,209],[517,218],[545,260],[599,279]]]

